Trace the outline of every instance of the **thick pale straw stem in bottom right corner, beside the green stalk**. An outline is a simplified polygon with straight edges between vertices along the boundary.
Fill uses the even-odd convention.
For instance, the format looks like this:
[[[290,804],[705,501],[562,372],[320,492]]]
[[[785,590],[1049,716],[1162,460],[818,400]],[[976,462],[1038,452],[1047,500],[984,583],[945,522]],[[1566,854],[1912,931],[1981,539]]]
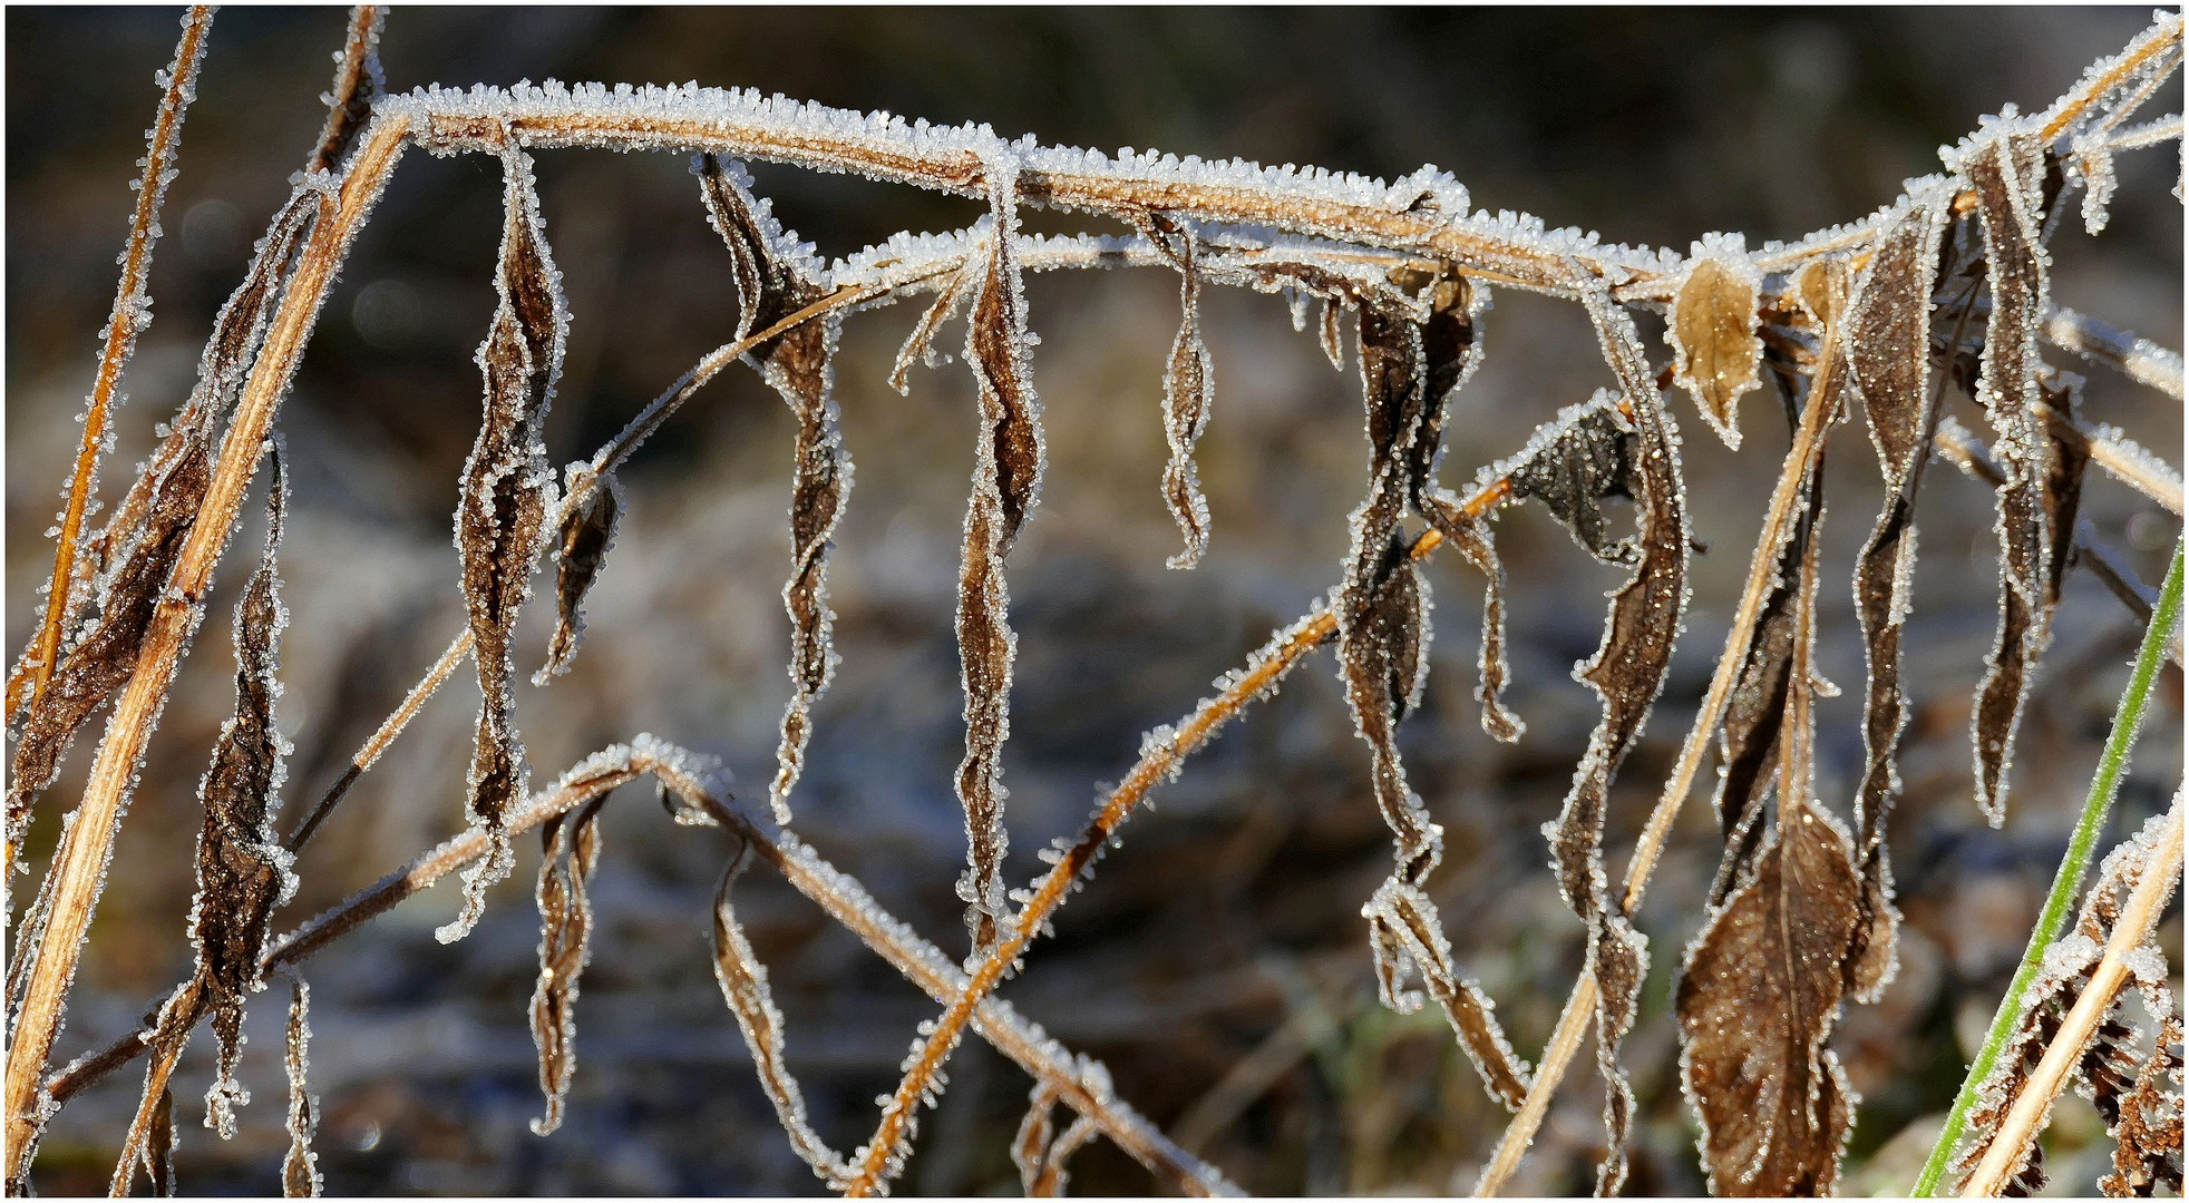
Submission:
[[[2134,892],[2128,895],[2128,903],[2115,921],[2112,938],[2106,941],[2106,956],[2090,971],[2090,984],[2082,989],[2075,1008],[2060,1021],[2060,1032],[2045,1048],[2045,1059],[2038,1061],[2038,1067],[2014,1098],[2007,1118],[2001,1120],[1992,1146],[1983,1153],[1983,1161],[1977,1164],[1977,1170],[1961,1188],[1964,1199],[1996,1199],[2005,1190],[2007,1179],[2020,1168],[2029,1142],[2038,1137],[2051,1113],[2053,1098],[2060,1096],[2069,1072],[2082,1061],[2082,1050],[2090,1032],[2112,1011],[2112,1000],[2128,984],[2128,956],[2150,938],[2152,927],[2158,923],[2158,912],[2174,897],[2174,881],[2180,877],[2180,866],[2182,794],[2174,794],[2167,825],[2158,831],[2158,842],[2152,844],[2152,860],[2145,862]]]

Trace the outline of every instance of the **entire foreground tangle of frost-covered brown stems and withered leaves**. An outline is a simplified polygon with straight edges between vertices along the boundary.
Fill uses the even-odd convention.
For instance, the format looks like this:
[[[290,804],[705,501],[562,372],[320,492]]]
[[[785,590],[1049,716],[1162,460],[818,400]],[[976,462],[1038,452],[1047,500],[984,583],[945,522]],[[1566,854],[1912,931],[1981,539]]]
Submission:
[[[105,527],[88,529],[112,383],[129,359],[134,332],[149,319],[144,265],[208,26],[204,9],[186,17],[175,66],[164,74],[147,186],[59,525],[50,606],[9,678],[15,739],[9,881],[61,757],[101,706],[112,715],[83,803],[61,820],[66,836],[50,871],[11,910],[4,1107],[13,1190],[28,1186],[53,1111],[136,1056],[147,1061],[144,1091],[114,1168],[114,1190],[127,1192],[140,1172],[162,1192],[173,1190],[173,1072],[184,1043],[197,1019],[212,1019],[219,1076],[206,1096],[208,1124],[232,1135],[236,1107],[247,1102],[234,1078],[243,1011],[269,973],[282,973],[291,980],[291,1153],[282,1183],[291,1194],[317,1192],[315,1102],[306,1087],[309,986],[300,962],[449,873],[462,873],[464,908],[438,936],[464,938],[488,903],[488,888],[517,864],[512,840],[532,827],[543,846],[532,1032],[545,1098],[532,1129],[554,1133],[578,1072],[580,982],[593,941],[587,892],[602,855],[598,818],[615,787],[650,776],[679,822],[727,836],[711,916],[714,973],[792,1148],[830,1190],[889,1190],[917,1148],[922,1111],[946,1087],[946,1063],[972,1032],[1035,1081],[1011,1148],[1029,1194],[1062,1192],[1070,1157],[1097,1137],[1138,1159],[1165,1188],[1230,1192],[1219,1166],[1186,1153],[1119,1100],[1101,1063],[1051,1041],[996,991],[1022,969],[1057,910],[1092,879],[1103,851],[1156,787],[1175,779],[1184,759],[1224,724],[1270,698],[1309,652],[1331,643],[1366,746],[1370,794],[1392,838],[1390,875],[1362,899],[1379,997],[1399,1013],[1434,1000],[1484,1089],[1515,1111],[1482,1190],[1495,1190],[1513,1172],[1589,1026],[1596,1067],[1609,1087],[1598,1190],[1622,1188],[1635,1102],[1620,1046],[1642,1013],[1653,962],[1672,958],[1679,1081],[1703,1133],[1699,1153],[1710,1186],[1723,1194],[1830,1192],[1858,1105],[1832,1048],[1834,1026],[1848,1004],[1874,1002],[1896,969],[1887,816],[1900,792],[1896,746],[1909,715],[1900,641],[1915,604],[1920,486],[1933,451],[1996,486],[1999,628],[1970,733],[1970,805],[1994,825],[2007,820],[2016,731],[2064,575],[2084,564],[2132,608],[2150,610],[2147,586],[2077,523],[2082,490],[2095,479],[2090,468],[2180,514],[2178,472],[2088,422],[2080,413],[2082,381],[2058,357],[2047,359],[2049,348],[2069,350],[2176,400],[2182,396],[2176,354],[2053,304],[2047,249],[2077,221],[2093,234],[2104,227],[2112,155],[2178,142],[2178,116],[2130,125],[2180,68],[2182,24],[2174,13],[2158,13],[2150,31],[2093,66],[2047,109],[2010,109],[1985,120],[1944,155],[1939,175],[1909,182],[1896,203],[1863,221],[1753,252],[1738,234],[1710,234],[1690,254],[1675,254],[1602,245],[1526,217],[1471,212],[1464,188],[1429,168],[1379,182],[1156,153],[1112,157],[1033,138],[1007,140],[987,127],[930,127],[700,87],[549,83],[392,96],[379,85],[381,13],[363,7],[339,55],[326,133],[221,311],[197,389]],[[453,516],[466,630],[282,838],[276,816],[287,746],[276,733],[274,704],[287,626],[276,560],[287,490],[278,411],[328,282],[409,147],[495,155],[503,179],[499,302],[477,350],[482,422]],[[547,459],[543,422],[571,315],[530,157],[547,147],[692,153],[696,212],[720,234],[738,291],[731,341],[622,435],[560,475]],[[987,212],[952,234],[902,234],[825,262],[777,221],[744,160],[852,171],[972,197]],[[1031,236],[1020,227],[1029,208],[1112,219],[1123,232]],[[1151,731],[1140,761],[1084,831],[1046,849],[1049,871],[1011,890],[1003,875],[1009,842],[1003,752],[1011,735],[1018,632],[1007,564],[1035,518],[1049,455],[1024,276],[1092,267],[1156,267],[1180,278],[1178,335],[1160,416],[1151,416],[1169,444],[1158,488],[1182,536],[1182,551],[1169,560],[1173,569],[1193,569],[1221,534],[1213,529],[1195,468],[1195,446],[1219,413],[1200,322],[1211,287],[1281,293],[1302,330],[1320,306],[1316,337],[1333,365],[1344,365],[1353,343],[1366,477],[1327,602],[1278,630],[1180,724]],[[1607,387],[1545,420],[1513,457],[1453,490],[1440,481],[1451,402],[1482,363],[1491,291],[1508,287],[1580,306],[1602,350]],[[943,328],[963,319],[963,359],[976,385],[974,470],[957,573],[965,752],[954,790],[965,818],[959,897],[970,927],[961,960],[882,912],[862,886],[792,833],[816,702],[836,667],[827,569],[852,494],[852,457],[834,396],[841,330],[860,311],[917,295],[933,302],[891,383],[908,387],[913,363],[933,363]],[[1642,337],[1637,313],[1664,315],[1666,354],[1655,354]],[[543,560],[554,560],[556,623],[534,678],[547,685],[578,656],[587,593],[613,571],[626,512],[617,472],[639,442],[731,363],[757,370],[781,394],[797,429],[790,567],[781,591],[792,698],[781,717],[771,807],[766,816],[746,814],[696,757],[650,737],[617,744],[534,792],[512,691],[528,656],[514,645],[514,626],[534,575]],[[1990,444],[1946,416],[1948,385],[1983,409]],[[1679,641],[1718,636],[1688,626],[1696,545],[1679,394],[1694,400],[1705,427],[1729,448],[1742,446],[1742,400],[1775,398],[1791,446],[1762,510],[1710,689],[1642,844],[1615,879],[1605,855],[1615,779],[1666,693]],[[1756,431],[1764,420],[1758,409],[1769,407],[1751,400],[1747,409],[1749,442],[1769,442]],[[1815,772],[1817,700],[1834,687],[1817,663],[1817,628],[1823,606],[1843,604],[1819,567],[1828,516],[1823,459],[1834,435],[1841,455],[1863,455],[1850,424],[1867,429],[1883,477],[1883,503],[1852,580],[1867,656],[1861,689],[1867,755],[1854,796],[1823,798]],[[236,610],[234,717],[199,790],[199,897],[188,916],[195,971],[147,1015],[142,1030],[74,1065],[48,1065],[144,741],[204,619],[212,567],[263,462],[271,464],[269,536]],[[1456,936],[1432,901],[1445,833],[1410,787],[1399,744],[1429,669],[1432,595],[1421,564],[1447,542],[1482,573],[1486,588],[1480,722],[1502,741],[1524,737],[1524,722],[1502,702],[1510,678],[1508,604],[1493,521],[1526,501],[1539,501],[1605,564],[1605,584],[1613,586],[1600,645],[1576,667],[1576,680],[1600,704],[1596,726],[1587,746],[1572,750],[1578,759],[1563,805],[1543,807],[1550,868],[1583,938],[1583,971],[1559,1032],[1532,1065],[1513,1050],[1495,1004],[1464,967],[1480,949]],[[1869,499],[1850,505],[1865,507]],[[276,914],[296,888],[296,851],[464,656],[482,691],[464,833],[337,910],[276,934]],[[1633,916],[1672,816],[1712,761],[1712,746],[1723,855],[1710,908],[1683,951],[1653,949]],[[2097,1102],[2117,1137],[2117,1170],[2101,1188],[2180,1190],[2180,1015],[2165,984],[2165,956],[2150,941],[2152,908],[2130,906],[2136,890],[2145,897],[2171,888],[2178,855],[2169,866],[2158,849],[2167,838],[2178,844],[2178,811],[2176,798],[2171,827],[2154,820],[2108,860],[2075,936],[2055,949],[2040,989],[2023,1000],[2012,1059],[1985,1083],[1966,1172],[1977,1172],[1977,1159],[2003,1140],[1999,1131],[2012,1129],[2018,1100],[2049,1105],[2062,1089],[2058,1076],[2045,1085],[2045,1056],[2062,1039],[2077,1000],[2097,989],[2093,973],[2112,965],[2108,941],[2123,941],[2130,949],[2123,973],[2152,1013],[2156,1041],[2143,1052],[2136,1030],[2112,1015],[2108,993],[2064,1078]],[[738,873],[755,862],[819,901],[943,1008],[922,1024],[900,1087],[882,1098],[873,1133],[856,1148],[823,1142],[784,1059],[786,1015],[731,901]],[[2025,1148],[2007,1153],[2012,1183],[2020,1188],[2042,1175],[2027,1135],[2020,1131]]]

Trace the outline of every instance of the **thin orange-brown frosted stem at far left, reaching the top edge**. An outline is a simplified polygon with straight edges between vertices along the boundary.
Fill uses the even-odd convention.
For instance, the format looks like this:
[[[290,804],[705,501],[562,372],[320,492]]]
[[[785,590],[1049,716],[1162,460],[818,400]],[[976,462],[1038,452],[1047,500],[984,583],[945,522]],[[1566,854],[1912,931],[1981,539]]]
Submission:
[[[83,437],[77,442],[77,466],[68,477],[68,505],[61,510],[59,542],[53,551],[53,586],[46,595],[46,617],[37,626],[31,650],[9,674],[7,722],[15,722],[15,709],[26,700],[46,693],[53,665],[61,656],[61,628],[68,626],[70,595],[77,584],[77,551],[83,534],[83,514],[92,492],[99,490],[99,455],[107,446],[107,418],[114,398],[120,394],[123,370],[136,339],[151,322],[151,308],[142,304],[144,280],[151,276],[151,247],[160,238],[160,201],[166,199],[166,182],[173,171],[175,151],[182,144],[182,116],[197,92],[197,63],[206,55],[206,35],[212,31],[212,7],[197,4],[182,26],[182,42],[175,46],[175,61],[166,68],[166,94],[160,98],[160,116],[151,127],[151,142],[144,151],[144,175],[138,179],[136,212],[129,219],[129,243],[123,247],[123,278],[114,289],[114,313],[107,317],[105,346],[99,352],[99,374],[92,378],[92,402],[83,413]],[[4,849],[7,864],[15,862],[15,849]]]

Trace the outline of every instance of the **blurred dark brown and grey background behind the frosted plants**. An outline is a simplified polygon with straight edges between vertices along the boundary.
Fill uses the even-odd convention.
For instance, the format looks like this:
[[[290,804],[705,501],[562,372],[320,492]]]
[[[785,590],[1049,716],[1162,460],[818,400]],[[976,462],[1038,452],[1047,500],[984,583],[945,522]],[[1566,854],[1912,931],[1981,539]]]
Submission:
[[[212,33],[199,101],[153,269],[160,319],[129,372],[131,407],[107,459],[114,497],[151,427],[188,392],[212,311],[317,136],[337,9],[232,9]],[[1937,168],[1935,147],[2005,103],[2038,107],[2147,22],[2145,9],[1896,11],[1333,11],[1333,9],[396,9],[390,85],[519,79],[749,85],[928,120],[987,120],[1044,142],[1158,147],[1375,175],[1453,171],[1486,208],[1517,208],[1607,238],[1686,249],[1707,230],[1749,245],[1858,219]],[[77,437],[94,332],[114,289],[131,160],[153,109],[151,72],[173,52],[169,9],[7,13],[7,639],[35,621],[50,569],[55,486]],[[2152,112],[2180,109],[2180,83]],[[589,453],[698,354],[729,337],[729,258],[676,155],[538,155],[545,214],[574,311],[549,420],[556,462]],[[2104,238],[2069,225],[2055,297],[2182,346],[2182,219],[2171,151],[2130,155]],[[775,212],[825,254],[895,230],[948,230],[965,201],[755,166]],[[412,153],[335,289],[282,429],[296,468],[282,549],[293,626],[280,720],[296,741],[289,809],[339,772],[359,739],[462,621],[451,512],[477,424],[473,348],[493,308],[499,166]],[[1033,217],[1038,230],[1073,230]],[[1178,322],[1169,273],[1038,278],[1035,383],[1051,477],[1011,558],[1020,674],[1005,763],[1011,877],[1075,831],[1099,781],[1140,733],[1182,715],[1211,678],[1337,577],[1344,514],[1364,470],[1359,385],[1294,335],[1283,304],[1213,291],[1215,420],[1200,464],[1215,547],[1165,571],[1175,529],[1158,494],[1160,365]],[[1517,448],[1556,407],[1609,383],[1567,304],[1504,291],[1484,370],[1456,400],[1445,479]],[[911,308],[856,317],[838,365],[858,486],[832,584],[845,656],[819,706],[797,829],[900,916],[957,954],[950,892],[963,827],[950,792],[963,726],[952,641],[957,538],[972,464],[963,367],[922,370],[908,398],[882,383]],[[957,343],[946,332],[943,346]],[[1348,365],[1351,367],[1351,365]],[[2082,365],[2073,365],[2082,370]],[[2088,416],[2180,462],[2180,407],[2097,370]],[[1775,475],[1775,405],[1747,402],[1747,453],[1701,433],[1688,400],[1686,470],[1710,553],[1696,560],[1688,639],[1668,693],[1613,794],[1624,860],[1707,680],[1760,497]],[[1957,398],[1957,413],[1972,407]],[[1841,427],[1830,459],[1828,577],[1845,580],[1878,477]],[[650,731],[711,755],[757,796],[788,698],[784,503],[790,420],[751,374],[725,376],[626,472],[630,507],[578,667],[521,687],[536,774]],[[2099,534],[2156,580],[2174,523],[2093,481]],[[252,523],[263,521],[252,516]],[[1513,571],[1508,700],[1517,746],[1478,728],[1480,580],[1438,560],[1436,669],[1403,728],[1416,790],[1447,829],[1434,897],[1462,965],[1534,1054],[1578,969],[1578,927],[1556,899],[1537,827],[1554,816],[1596,709],[1570,680],[1618,584],[1541,512],[1506,516]],[[239,547],[252,547],[245,532]],[[1850,1192],[1902,1190],[1959,1065],[2005,984],[2097,759],[2136,623],[2088,575],[2069,580],[2038,700],[2023,728],[2012,816],[1990,831],[1970,801],[1968,696],[1992,634],[1990,492],[1950,468],[1929,477],[1911,621],[1913,704],[1896,811],[1900,978],[1854,1008],[1837,1048],[1865,1102]],[[230,709],[223,595],[153,741],[116,873],[79,978],[61,1054],[136,1024],[188,965],[193,801]],[[523,647],[545,647],[534,604]],[[536,652],[534,652],[536,654]],[[530,667],[530,665],[521,665]],[[1823,669],[1861,680],[1845,595],[1823,615]],[[302,860],[300,921],[460,827],[477,704],[468,669],[442,691]],[[2132,831],[2180,779],[2180,674],[2163,685],[2112,822]],[[1861,763],[1858,689],[1828,702],[1823,796],[1845,807]],[[50,792],[33,853],[81,783],[90,739]],[[595,879],[598,936],[578,1004],[571,1113],[541,1140],[525,1000],[538,938],[530,871],[495,895],[455,947],[429,930],[442,888],[309,965],[320,1151],[339,1194],[803,1194],[816,1188],[768,1113],[707,962],[707,895],[722,842],[674,829],[639,792],[611,805]],[[1699,925],[1714,829],[1688,807],[1642,925],[1653,980],[1626,1043],[1640,1091],[1637,1194],[1694,1194],[1694,1122],[1679,1098],[1666,1013],[1679,949]],[[521,842],[523,855],[532,842]],[[1473,1183],[1504,1113],[1489,1105],[1434,1013],[1381,1011],[1359,903],[1383,877],[1388,836],[1368,796],[1331,661],[1195,757],[1156,811],[1125,831],[1099,879],[1007,986],[1029,1017],[1101,1056],[1121,1094],[1254,1192],[1456,1192]],[[935,1008],[779,881],[753,873],[740,912],[790,1015],[788,1043],[816,1124],[865,1140],[873,1096],[897,1078],[913,1026]],[[2180,943],[2178,910],[2169,916]],[[190,1192],[276,1188],[282,1144],[280,1002],[252,1015],[258,1102],[219,1142],[188,1113],[206,1048],[186,1061],[179,1168]],[[201,1041],[208,1043],[208,1041]],[[1515,1190],[1587,1190],[1600,1155],[1600,1083],[1576,1065]],[[134,1074],[125,1074],[134,1078]],[[952,1063],[924,1122],[906,1192],[1016,1192],[1007,1140],[1029,1083],[985,1046]],[[99,1190],[136,1091],[114,1081],[55,1122],[37,1186]],[[2062,1105],[2051,1168],[2088,1190],[2104,1131]],[[1084,1192],[1145,1192],[1121,1153],[1075,1161]]]

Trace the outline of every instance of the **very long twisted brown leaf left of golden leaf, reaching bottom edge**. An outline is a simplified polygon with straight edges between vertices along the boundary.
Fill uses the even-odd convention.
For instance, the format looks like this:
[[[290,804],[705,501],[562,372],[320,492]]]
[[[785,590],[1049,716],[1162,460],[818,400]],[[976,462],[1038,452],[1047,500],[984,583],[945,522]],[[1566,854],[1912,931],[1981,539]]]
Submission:
[[[1605,892],[1605,803],[1611,776],[1633,750],[1635,739],[1642,737],[1642,726],[1648,722],[1657,693],[1664,691],[1664,676],[1672,663],[1672,643],[1688,608],[1688,514],[1672,413],[1648,370],[1633,319],[1611,302],[1609,291],[1594,278],[1583,278],[1578,293],[1596,326],[1596,339],[1605,348],[1605,361],[1633,409],[1635,446],[1631,455],[1605,455],[1602,442],[1609,440],[1598,429],[1596,437],[1602,442],[1585,444],[1591,453],[1580,462],[1567,459],[1574,470],[1563,481],[1554,481],[1580,488],[1580,492],[1559,494],[1567,499],[1574,514],[1567,525],[1574,527],[1576,538],[1583,538],[1583,545],[1602,556],[1600,534],[1591,542],[1580,534],[1578,518],[1591,516],[1600,532],[1602,518],[1596,499],[1611,488],[1602,479],[1602,470],[1624,459],[1631,472],[1624,488],[1637,503],[1640,532],[1629,558],[1635,573],[1611,595],[1605,641],[1596,656],[1578,665],[1574,674],[1602,700],[1602,717],[1589,735],[1589,748],[1574,770],[1574,785],[1565,794],[1556,822],[1545,825],[1543,831],[1552,844],[1552,864],[1559,871],[1565,903],[1589,925],[1587,967],[1598,986],[1596,1065],[1607,1087],[1605,1129],[1609,1133],[1609,1153],[1596,1172],[1596,1190],[1598,1194],[1618,1194],[1626,1181],[1626,1126],[1633,1111],[1633,1089],[1618,1063],[1618,1041],[1633,1024],[1642,978],[1648,969],[1648,941],[1613,908]],[[1598,409],[1583,416],[1580,422],[1591,422],[1602,413],[1609,411]],[[1552,503],[1552,510],[1561,510],[1561,503]]]

